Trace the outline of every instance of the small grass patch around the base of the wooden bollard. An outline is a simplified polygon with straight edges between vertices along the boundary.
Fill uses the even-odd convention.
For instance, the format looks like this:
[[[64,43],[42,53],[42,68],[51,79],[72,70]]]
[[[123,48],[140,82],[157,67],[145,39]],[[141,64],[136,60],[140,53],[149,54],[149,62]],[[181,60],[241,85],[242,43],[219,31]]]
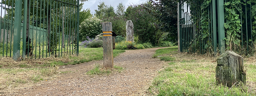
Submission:
[[[114,68],[113,69],[105,69],[103,68],[102,65],[100,64],[95,64],[93,66],[93,69],[88,71],[86,74],[88,75],[109,75],[111,72],[122,72],[123,71],[123,68],[120,67],[120,66],[116,66],[114,65]]]

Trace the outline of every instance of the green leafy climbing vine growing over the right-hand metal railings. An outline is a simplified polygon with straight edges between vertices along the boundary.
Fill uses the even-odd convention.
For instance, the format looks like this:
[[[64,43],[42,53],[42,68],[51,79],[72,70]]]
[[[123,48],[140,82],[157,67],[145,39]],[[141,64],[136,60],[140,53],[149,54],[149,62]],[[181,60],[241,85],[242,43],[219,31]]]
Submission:
[[[209,8],[212,8],[211,4],[213,1],[184,0],[184,2],[190,5],[190,9],[199,11],[191,11],[196,27],[196,35],[195,39],[190,42],[190,46],[197,48],[197,50],[200,48],[200,50],[211,54],[213,51],[212,41],[217,39],[211,38],[211,29],[213,28],[211,26],[212,18],[209,18],[209,16],[213,14]],[[217,1],[215,2],[217,3]],[[225,27],[224,40],[226,41],[226,50],[233,50],[239,54],[256,52],[256,0],[225,0],[224,19],[225,23],[223,26]],[[209,28],[209,26],[211,27]],[[202,44],[204,49],[202,48]],[[246,51],[248,46],[249,50]]]

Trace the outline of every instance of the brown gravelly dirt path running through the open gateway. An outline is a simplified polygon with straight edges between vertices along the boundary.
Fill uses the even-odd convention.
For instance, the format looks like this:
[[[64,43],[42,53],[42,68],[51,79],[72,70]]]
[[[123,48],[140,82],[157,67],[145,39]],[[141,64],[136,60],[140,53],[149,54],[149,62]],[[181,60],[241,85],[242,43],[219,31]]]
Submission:
[[[114,65],[124,68],[121,73],[108,76],[89,76],[86,72],[93,68],[91,61],[84,64],[60,67],[60,74],[52,80],[20,89],[9,95],[15,96],[143,96],[153,77],[157,75],[164,61],[151,58],[157,49],[126,50],[114,58]],[[72,71],[72,72],[70,72]]]

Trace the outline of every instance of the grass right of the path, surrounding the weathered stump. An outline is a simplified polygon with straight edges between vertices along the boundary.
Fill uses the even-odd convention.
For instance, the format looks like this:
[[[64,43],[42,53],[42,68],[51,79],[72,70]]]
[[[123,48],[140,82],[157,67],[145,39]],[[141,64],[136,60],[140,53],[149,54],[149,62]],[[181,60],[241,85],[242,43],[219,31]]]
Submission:
[[[169,50],[169,51],[167,51]],[[172,51],[172,52],[171,52]],[[256,63],[244,62],[247,84],[228,88],[215,80],[216,58],[176,53],[177,48],[156,51],[156,56],[176,58],[153,79],[148,91],[156,96],[255,96]],[[166,52],[166,53],[165,53]],[[172,56],[171,56],[172,55]]]

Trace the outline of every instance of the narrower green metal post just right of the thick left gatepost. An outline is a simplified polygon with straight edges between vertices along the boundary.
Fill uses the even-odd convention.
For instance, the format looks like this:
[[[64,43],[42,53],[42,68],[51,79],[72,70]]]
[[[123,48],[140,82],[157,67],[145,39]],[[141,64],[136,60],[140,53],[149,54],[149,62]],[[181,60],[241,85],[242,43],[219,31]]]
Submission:
[[[26,59],[26,43],[24,43],[24,42],[26,42],[26,31],[27,31],[27,18],[29,18],[29,17],[27,17],[27,11],[28,11],[28,9],[27,9],[27,6],[26,5],[28,5],[28,0],[24,0],[24,15],[23,15],[23,17],[24,17],[24,19],[23,19],[23,32],[22,32],[22,57],[23,57],[23,60],[25,60]]]

